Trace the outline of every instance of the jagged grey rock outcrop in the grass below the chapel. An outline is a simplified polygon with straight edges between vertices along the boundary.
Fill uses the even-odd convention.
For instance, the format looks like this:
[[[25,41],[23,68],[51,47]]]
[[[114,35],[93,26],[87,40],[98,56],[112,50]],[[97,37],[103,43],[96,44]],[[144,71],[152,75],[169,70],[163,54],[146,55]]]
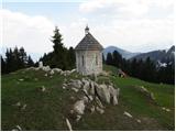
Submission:
[[[103,103],[118,105],[119,88],[114,88],[112,84],[98,84],[90,79],[70,79],[63,84],[63,89],[72,89],[80,94],[79,99],[75,101],[69,113],[75,121],[79,121],[86,111],[91,113],[98,112],[103,114],[106,107]],[[84,95],[82,95],[84,94]]]

